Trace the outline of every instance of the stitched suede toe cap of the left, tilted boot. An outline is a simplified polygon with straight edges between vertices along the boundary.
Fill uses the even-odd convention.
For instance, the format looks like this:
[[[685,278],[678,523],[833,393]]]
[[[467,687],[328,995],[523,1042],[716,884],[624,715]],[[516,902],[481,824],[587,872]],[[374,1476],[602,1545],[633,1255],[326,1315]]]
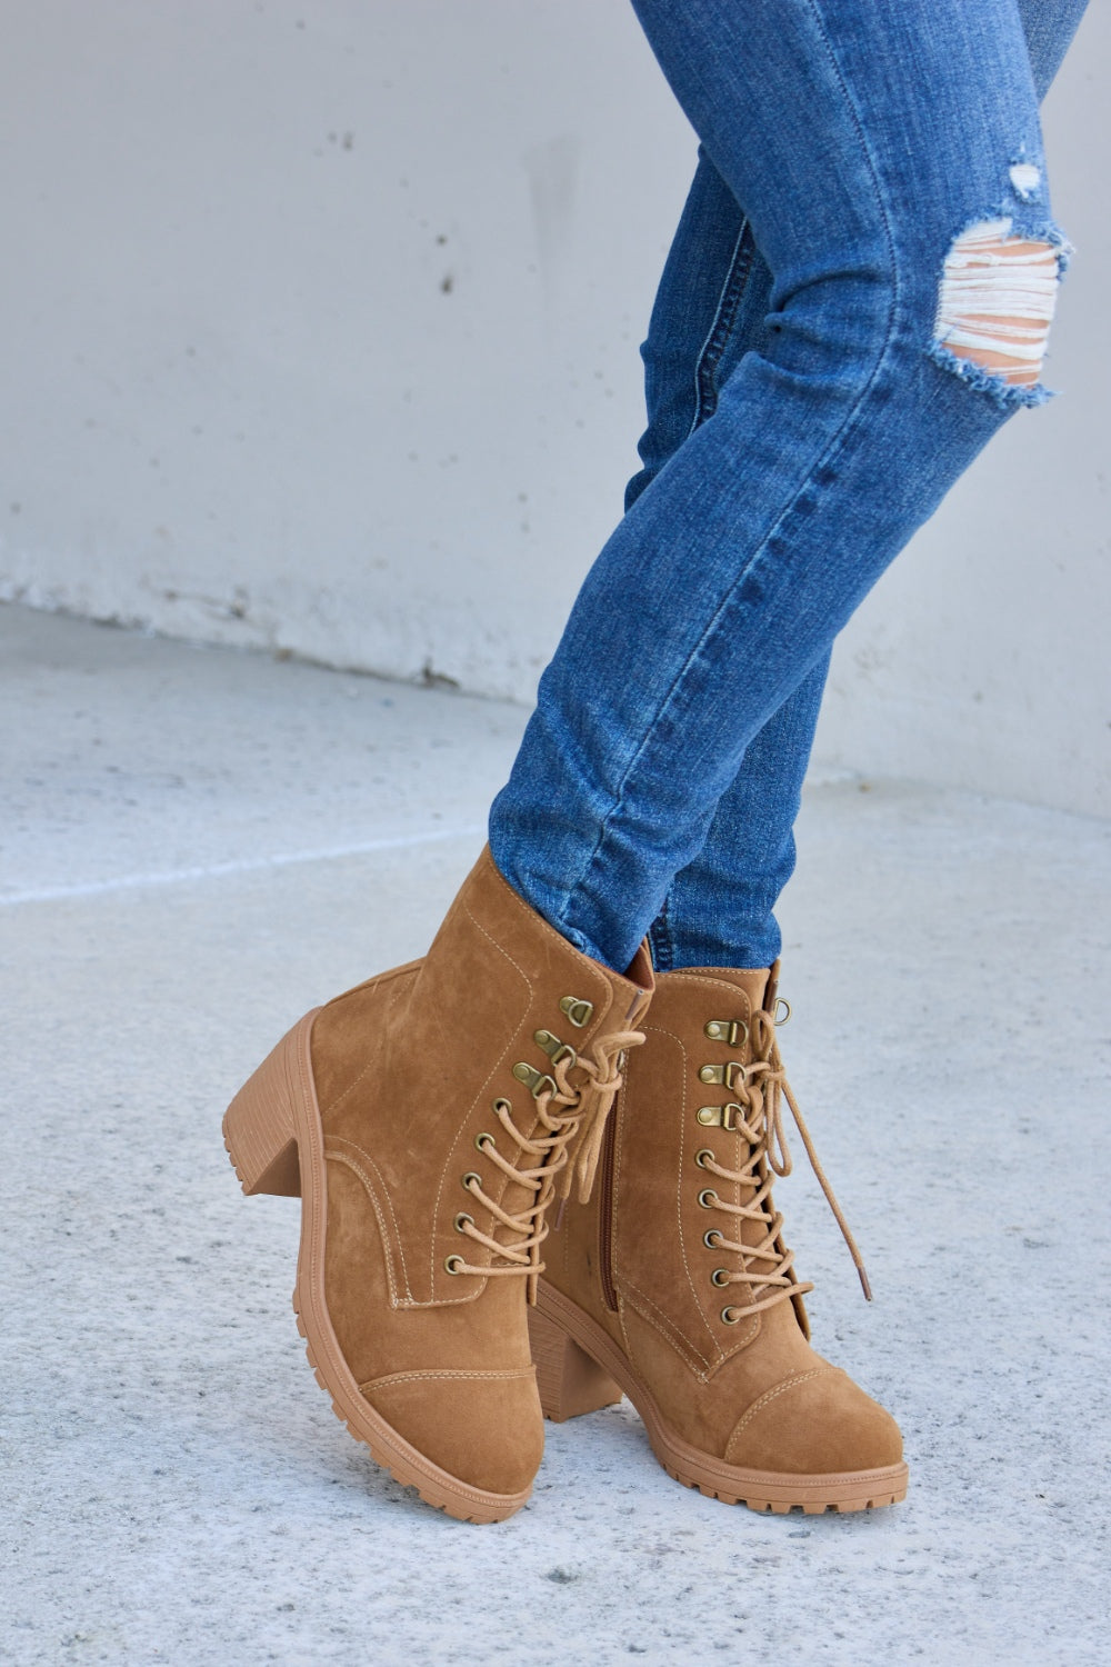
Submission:
[[[505,1499],[526,1494],[543,1454],[531,1369],[398,1372],[361,1385],[363,1399],[456,1482]]]

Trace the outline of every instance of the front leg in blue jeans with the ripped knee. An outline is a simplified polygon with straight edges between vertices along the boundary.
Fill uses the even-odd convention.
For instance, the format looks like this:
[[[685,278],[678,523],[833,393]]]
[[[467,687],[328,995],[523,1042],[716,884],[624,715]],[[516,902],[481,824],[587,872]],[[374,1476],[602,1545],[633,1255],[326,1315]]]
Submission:
[[[591,570],[491,815],[510,882],[611,965],[761,727],[1006,412],[1041,397],[1021,363],[971,363],[974,332],[938,340],[969,323],[939,308],[939,270],[969,225],[1034,288],[1059,247],[1008,0],[640,12],[776,283],[765,348]]]

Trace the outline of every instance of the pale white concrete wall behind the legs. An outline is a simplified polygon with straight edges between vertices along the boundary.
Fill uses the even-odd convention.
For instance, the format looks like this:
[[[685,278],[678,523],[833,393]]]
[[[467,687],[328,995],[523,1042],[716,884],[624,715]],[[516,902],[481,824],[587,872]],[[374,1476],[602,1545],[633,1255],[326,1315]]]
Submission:
[[[1068,397],[846,633],[823,768],[1111,810],[1109,23],[1049,112]],[[626,0],[35,0],[0,123],[0,597],[528,698],[693,165]]]

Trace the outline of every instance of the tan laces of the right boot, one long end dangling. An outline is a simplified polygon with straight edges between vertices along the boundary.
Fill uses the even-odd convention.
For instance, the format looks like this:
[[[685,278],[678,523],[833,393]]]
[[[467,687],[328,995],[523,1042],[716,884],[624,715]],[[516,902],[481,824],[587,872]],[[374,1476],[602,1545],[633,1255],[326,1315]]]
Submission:
[[[728,1215],[736,1217],[738,1222],[758,1222],[765,1229],[765,1237],[756,1245],[745,1245],[740,1244],[740,1237],[735,1240],[718,1234],[715,1249],[731,1250],[735,1255],[740,1255],[743,1270],[736,1274],[720,1269],[718,1275],[721,1277],[715,1277],[715,1284],[723,1287],[743,1284],[750,1287],[755,1300],[746,1302],[743,1309],[733,1310],[733,1315],[738,1319],[746,1314],[758,1314],[761,1309],[771,1309],[776,1302],[785,1302],[790,1297],[801,1297],[805,1292],[815,1289],[813,1284],[800,1282],[795,1275],[795,1252],[776,1247],[776,1240],[783,1230],[783,1217],[771,1202],[771,1187],[776,1177],[790,1175],[793,1167],[783,1132],[783,1100],[786,1099],[803,1147],[806,1149],[810,1167],[818,1177],[818,1184],[826,1195],[826,1204],[841,1229],[841,1237],[859,1274],[864,1297],[871,1302],[871,1285],[868,1284],[868,1274],[856,1249],[856,1240],[844,1220],[833,1187],[826,1180],[826,1172],[815,1152],[815,1144],[798,1109],[798,1100],[786,1080],[771,1014],[763,1010],[753,1014],[750,1037],[755,1059],[750,1065],[736,1067],[736,1075],[730,1079],[730,1092],[735,1095],[733,1104],[741,1114],[735,1119],[731,1129],[748,1142],[748,1162],[741,1169],[725,1169],[723,1164],[718,1164],[706,1154],[701,1157],[701,1167],[720,1180],[751,1189],[748,1204],[730,1204],[720,1194],[713,1192],[710,1209],[725,1210]],[[725,1312],[730,1315],[728,1309]]]

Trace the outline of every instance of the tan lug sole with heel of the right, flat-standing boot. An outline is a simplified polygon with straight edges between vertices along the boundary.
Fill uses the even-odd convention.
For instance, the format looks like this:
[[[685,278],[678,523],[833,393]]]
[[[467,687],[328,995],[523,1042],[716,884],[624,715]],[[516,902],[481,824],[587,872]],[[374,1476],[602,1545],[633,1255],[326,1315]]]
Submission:
[[[869,1510],[879,1505],[896,1505],[906,1499],[908,1469],[904,1464],[879,1470],[846,1470],[826,1475],[793,1475],[785,1470],[745,1470],[740,1465],[700,1452],[665,1422],[650,1390],[636,1377],[631,1362],[603,1329],[576,1304],[551,1285],[541,1282],[535,1317],[530,1314],[533,1347],[536,1350],[536,1382],[545,1417],[561,1422],[580,1412],[593,1412],[615,1399],[610,1387],[621,1389],[641,1417],[653,1454],[676,1482],[698,1489],[708,1499],[726,1505],[748,1505],[750,1510],[785,1515],[801,1510],[821,1515]],[[575,1355],[560,1354],[558,1332]],[[585,1355],[596,1372],[595,1390],[571,1394],[563,1389],[565,1374],[575,1374],[573,1385],[581,1385],[585,1374],[576,1355]],[[590,1402],[590,1404],[586,1404]],[[570,1410],[570,1404],[575,1410]],[[551,1409],[551,1410],[550,1410]]]

